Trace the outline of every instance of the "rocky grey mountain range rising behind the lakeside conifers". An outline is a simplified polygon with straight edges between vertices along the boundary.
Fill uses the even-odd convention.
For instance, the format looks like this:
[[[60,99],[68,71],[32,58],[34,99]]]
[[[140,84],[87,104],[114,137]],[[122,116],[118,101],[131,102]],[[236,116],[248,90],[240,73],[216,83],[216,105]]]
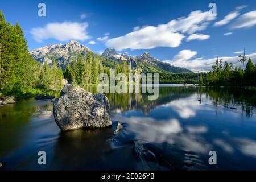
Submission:
[[[55,60],[58,67],[65,68],[76,60],[78,54],[86,56],[86,53],[92,50],[75,40],[67,44],[49,44],[42,48],[32,50],[30,53],[36,61],[42,64],[52,64]],[[174,67],[171,64],[164,63],[145,52],[143,55],[131,56],[126,53],[118,54],[115,49],[107,48],[101,55],[92,52],[94,57],[98,57],[101,64],[114,68],[115,65],[126,60],[132,68],[140,67],[144,73],[192,73],[189,69]]]

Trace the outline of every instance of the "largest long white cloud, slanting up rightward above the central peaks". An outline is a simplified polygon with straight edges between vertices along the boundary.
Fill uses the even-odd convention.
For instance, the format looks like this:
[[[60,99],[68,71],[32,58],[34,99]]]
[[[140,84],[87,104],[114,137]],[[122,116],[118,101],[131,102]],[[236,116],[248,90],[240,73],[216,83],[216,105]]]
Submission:
[[[185,38],[184,34],[194,34],[205,30],[214,16],[208,11],[193,11],[187,17],[171,20],[167,24],[146,26],[124,36],[109,39],[106,47],[113,47],[118,51],[123,49],[151,49],[155,47],[178,47]]]

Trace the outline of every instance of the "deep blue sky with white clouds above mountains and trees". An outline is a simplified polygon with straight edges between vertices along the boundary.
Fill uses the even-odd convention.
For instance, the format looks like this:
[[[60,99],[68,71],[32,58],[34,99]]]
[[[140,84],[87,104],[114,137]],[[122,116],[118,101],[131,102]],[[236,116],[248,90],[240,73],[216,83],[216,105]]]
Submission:
[[[38,16],[40,2],[46,4],[46,17]],[[234,52],[246,47],[256,58],[256,1],[212,2],[214,18],[205,14],[209,1],[10,0],[0,9],[7,22],[20,23],[30,50],[75,39],[97,53],[108,46],[130,55],[150,52],[193,71],[207,71],[217,51],[237,63]]]

